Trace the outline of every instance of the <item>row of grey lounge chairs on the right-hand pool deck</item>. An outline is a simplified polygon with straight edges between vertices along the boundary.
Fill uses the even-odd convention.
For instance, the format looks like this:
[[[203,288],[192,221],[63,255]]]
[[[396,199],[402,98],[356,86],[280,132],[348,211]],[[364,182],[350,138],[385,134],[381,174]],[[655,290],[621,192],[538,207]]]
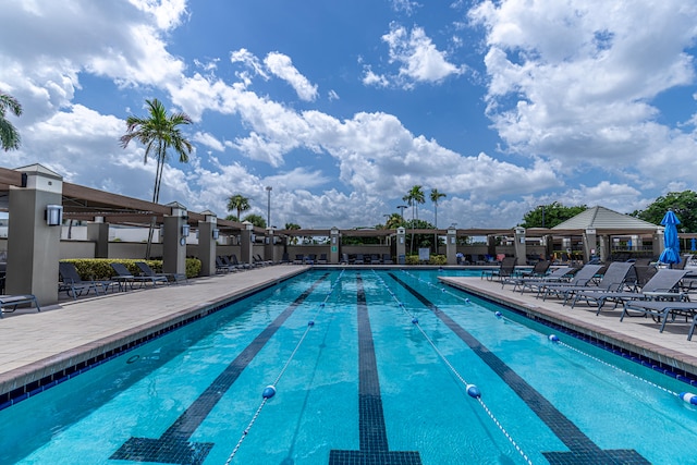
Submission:
[[[541,277],[492,270],[487,278],[499,280],[502,286],[511,285],[514,292],[535,293],[542,299],[558,298],[571,308],[585,304],[596,315],[611,303],[613,309],[622,307],[621,321],[626,317],[651,317],[660,323],[660,332],[667,322],[684,317],[689,323],[687,339],[692,340],[697,327],[697,302],[689,301],[689,292],[697,289],[697,279],[688,273],[685,269],[613,261],[607,267],[558,268]]]

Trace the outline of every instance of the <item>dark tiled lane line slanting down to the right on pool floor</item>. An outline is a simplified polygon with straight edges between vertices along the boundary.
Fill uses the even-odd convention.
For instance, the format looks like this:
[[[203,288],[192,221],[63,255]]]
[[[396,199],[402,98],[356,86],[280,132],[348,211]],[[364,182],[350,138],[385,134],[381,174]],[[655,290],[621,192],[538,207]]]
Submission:
[[[564,414],[559,412],[551,402],[535,388],[521,378],[501,358],[481,344],[475,336],[445,315],[437,305],[421,295],[414,287],[389,273],[400,285],[407,290],[421,304],[433,313],[443,323],[474,351],[515,393],[535,412],[549,429],[570,449],[570,452],[542,452],[550,464],[649,464],[638,452],[633,449],[603,451],[578,429]],[[481,387],[480,387],[481,388]]]

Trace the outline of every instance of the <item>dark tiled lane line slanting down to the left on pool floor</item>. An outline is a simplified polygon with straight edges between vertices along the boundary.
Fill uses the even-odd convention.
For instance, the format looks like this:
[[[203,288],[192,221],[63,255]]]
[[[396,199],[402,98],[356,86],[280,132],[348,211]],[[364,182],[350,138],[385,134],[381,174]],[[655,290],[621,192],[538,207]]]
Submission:
[[[111,460],[157,462],[167,464],[201,464],[213,446],[212,442],[189,442],[194,431],[206,419],[218,401],[240,377],[249,362],[283,326],[293,311],[315,291],[329,273],[323,274],[303,292],[264,331],[249,343],[212,383],[180,415],[167,431],[157,439],[131,438],[111,455]]]

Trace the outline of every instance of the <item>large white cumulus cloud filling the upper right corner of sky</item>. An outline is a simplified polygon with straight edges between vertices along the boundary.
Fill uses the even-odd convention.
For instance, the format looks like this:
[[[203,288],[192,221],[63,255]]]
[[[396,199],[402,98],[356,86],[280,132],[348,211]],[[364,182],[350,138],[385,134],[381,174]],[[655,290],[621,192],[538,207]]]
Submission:
[[[626,176],[668,154],[695,168],[694,135],[652,105],[694,83],[694,4],[484,1],[469,19],[487,32],[487,114],[510,151]]]

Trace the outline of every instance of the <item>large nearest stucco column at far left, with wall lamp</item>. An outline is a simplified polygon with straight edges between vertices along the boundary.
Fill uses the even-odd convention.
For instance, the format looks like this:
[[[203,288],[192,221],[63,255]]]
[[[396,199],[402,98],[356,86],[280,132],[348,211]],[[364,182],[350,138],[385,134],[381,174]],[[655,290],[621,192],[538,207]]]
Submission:
[[[5,294],[34,294],[39,305],[58,303],[58,260],[63,179],[40,164],[20,168],[23,187],[10,186]],[[60,213],[48,224],[47,207]]]

